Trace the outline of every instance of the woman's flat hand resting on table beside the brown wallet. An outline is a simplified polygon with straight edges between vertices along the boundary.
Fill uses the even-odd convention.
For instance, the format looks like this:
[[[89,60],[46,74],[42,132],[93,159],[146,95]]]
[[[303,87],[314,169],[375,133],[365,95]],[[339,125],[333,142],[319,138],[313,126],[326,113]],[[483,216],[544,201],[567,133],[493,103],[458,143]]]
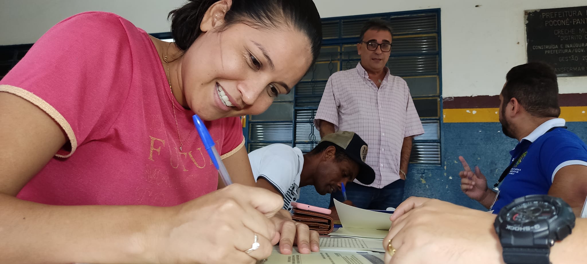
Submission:
[[[310,230],[308,225],[292,220],[289,211],[281,209],[271,218],[277,231],[272,244],[279,242],[279,252],[289,255],[298,246],[299,253],[309,254],[320,251],[318,232]]]

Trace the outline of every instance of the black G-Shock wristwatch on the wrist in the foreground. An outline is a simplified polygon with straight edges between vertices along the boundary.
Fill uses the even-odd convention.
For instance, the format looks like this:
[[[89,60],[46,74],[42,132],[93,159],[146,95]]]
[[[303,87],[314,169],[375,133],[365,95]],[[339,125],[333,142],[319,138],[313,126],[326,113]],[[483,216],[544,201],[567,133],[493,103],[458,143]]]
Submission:
[[[506,264],[549,264],[551,246],[571,233],[575,214],[561,198],[527,195],[502,208],[493,226]]]

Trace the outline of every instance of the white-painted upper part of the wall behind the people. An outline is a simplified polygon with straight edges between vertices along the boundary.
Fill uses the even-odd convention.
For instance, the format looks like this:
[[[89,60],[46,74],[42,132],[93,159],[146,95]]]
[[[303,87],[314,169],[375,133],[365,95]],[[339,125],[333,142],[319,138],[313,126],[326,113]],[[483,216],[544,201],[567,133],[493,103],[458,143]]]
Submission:
[[[497,95],[505,73],[526,62],[524,10],[587,5],[585,0],[315,0],[323,18],[441,8],[443,96]],[[97,10],[147,32],[167,32],[182,0],[3,0],[0,45],[32,43],[60,20]],[[475,5],[480,5],[475,7]],[[587,92],[587,77],[559,78],[561,93]]]

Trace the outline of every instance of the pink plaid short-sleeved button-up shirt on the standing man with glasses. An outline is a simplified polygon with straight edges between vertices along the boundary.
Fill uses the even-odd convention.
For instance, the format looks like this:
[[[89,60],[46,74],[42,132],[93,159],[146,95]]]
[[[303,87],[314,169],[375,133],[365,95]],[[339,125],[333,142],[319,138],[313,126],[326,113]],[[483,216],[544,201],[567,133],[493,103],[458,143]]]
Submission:
[[[335,130],[353,131],[365,140],[369,145],[365,163],[376,175],[367,186],[375,188],[400,178],[404,137],[424,134],[406,81],[387,72],[379,89],[360,63],[355,69],[334,73],[314,117],[318,128],[321,120],[329,121]]]

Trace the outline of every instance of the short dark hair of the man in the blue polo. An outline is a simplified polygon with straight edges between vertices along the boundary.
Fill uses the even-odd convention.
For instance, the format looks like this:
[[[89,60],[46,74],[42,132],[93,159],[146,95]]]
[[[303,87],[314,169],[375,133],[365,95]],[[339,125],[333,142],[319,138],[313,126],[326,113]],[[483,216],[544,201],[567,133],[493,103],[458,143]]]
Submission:
[[[558,117],[558,83],[552,67],[544,62],[530,62],[513,67],[505,76],[501,90],[502,107],[515,98],[524,109],[535,117]]]

